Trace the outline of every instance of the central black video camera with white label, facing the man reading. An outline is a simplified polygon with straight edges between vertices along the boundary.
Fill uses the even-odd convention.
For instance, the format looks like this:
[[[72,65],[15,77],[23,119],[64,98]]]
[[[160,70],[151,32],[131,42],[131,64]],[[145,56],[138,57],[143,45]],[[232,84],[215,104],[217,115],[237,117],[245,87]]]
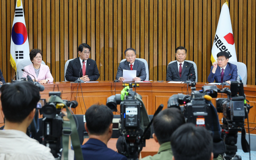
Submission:
[[[126,156],[128,160],[138,160],[138,154],[142,150],[143,146],[146,146],[145,141],[150,138],[151,134],[148,134],[147,132],[146,135],[149,136],[144,136],[144,125],[148,125],[144,120],[148,118],[148,114],[141,100],[141,96],[132,90],[134,87],[136,91],[136,87],[138,87],[139,84],[124,83],[123,86],[129,86],[129,89],[123,90],[126,92],[122,98],[123,100],[121,100],[121,94],[116,94],[108,97],[106,105],[113,112],[117,112],[118,110],[116,107],[120,104],[121,125],[119,132],[120,136],[123,136],[125,139],[123,148],[126,148],[121,154]],[[150,130],[147,131],[150,132]]]

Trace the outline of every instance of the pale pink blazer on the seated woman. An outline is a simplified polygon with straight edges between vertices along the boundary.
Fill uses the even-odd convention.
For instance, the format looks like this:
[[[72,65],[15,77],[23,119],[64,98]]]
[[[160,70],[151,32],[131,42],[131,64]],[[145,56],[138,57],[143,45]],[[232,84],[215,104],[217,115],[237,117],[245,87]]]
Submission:
[[[24,70],[26,72],[32,74],[38,82],[40,80],[49,80],[49,83],[53,82],[53,77],[52,77],[52,74],[50,72],[50,69],[49,69],[48,66],[46,66],[44,64],[40,64],[40,70],[39,70],[38,77],[36,77],[36,72],[34,70],[33,64],[30,64],[30,65],[24,67]],[[26,72],[23,72],[22,77],[27,77],[27,75],[29,75],[32,79],[34,79],[33,76],[31,76],[30,74],[27,74]]]

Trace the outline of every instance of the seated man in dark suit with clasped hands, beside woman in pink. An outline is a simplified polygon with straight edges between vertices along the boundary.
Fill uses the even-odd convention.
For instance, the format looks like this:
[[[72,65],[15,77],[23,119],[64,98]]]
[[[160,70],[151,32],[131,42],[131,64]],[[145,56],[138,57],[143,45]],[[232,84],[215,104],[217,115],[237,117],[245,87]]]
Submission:
[[[95,81],[100,77],[95,60],[89,58],[91,47],[88,44],[80,44],[78,54],[80,57],[70,61],[66,70],[66,80],[75,81],[78,78],[84,82]],[[84,64],[82,65],[82,60]],[[81,71],[80,71],[81,70]],[[79,75],[80,72],[80,75]]]

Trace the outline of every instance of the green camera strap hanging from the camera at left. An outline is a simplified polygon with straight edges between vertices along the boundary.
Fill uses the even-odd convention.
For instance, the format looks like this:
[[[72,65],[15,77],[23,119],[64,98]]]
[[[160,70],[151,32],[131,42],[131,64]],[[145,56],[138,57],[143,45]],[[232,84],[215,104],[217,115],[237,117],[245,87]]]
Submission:
[[[51,99],[51,98],[50,98]],[[54,99],[54,102],[57,103],[63,103],[63,100],[56,96],[56,98]],[[72,141],[72,146],[74,148],[74,152],[75,152],[75,156],[77,160],[83,160],[83,154],[82,154],[82,149],[80,146],[80,140],[78,138],[78,132],[76,129],[76,123],[75,120],[72,116],[72,114],[70,113],[70,110],[68,108],[68,106],[65,104],[65,108],[68,114],[68,120],[64,120],[62,127],[62,146],[63,146],[63,156],[64,156],[64,160],[68,160],[68,142],[69,142],[69,136],[71,137],[71,141]]]

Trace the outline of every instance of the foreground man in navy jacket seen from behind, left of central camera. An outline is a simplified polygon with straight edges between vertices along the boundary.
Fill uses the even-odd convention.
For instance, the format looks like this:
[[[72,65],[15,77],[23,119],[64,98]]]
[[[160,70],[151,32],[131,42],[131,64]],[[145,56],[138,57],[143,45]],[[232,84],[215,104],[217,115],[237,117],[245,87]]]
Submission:
[[[107,147],[112,136],[112,111],[105,105],[92,105],[85,113],[84,127],[89,140],[81,146],[84,160],[127,160]]]

